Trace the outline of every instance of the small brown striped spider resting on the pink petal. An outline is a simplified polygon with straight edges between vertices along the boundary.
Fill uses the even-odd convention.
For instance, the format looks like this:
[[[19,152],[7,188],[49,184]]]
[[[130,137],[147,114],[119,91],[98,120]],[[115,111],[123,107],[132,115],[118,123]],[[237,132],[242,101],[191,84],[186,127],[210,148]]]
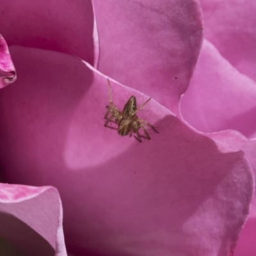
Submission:
[[[144,102],[140,108],[137,108],[136,105],[136,97],[131,96],[131,98],[127,101],[127,103],[124,106],[123,111],[120,111],[116,108],[116,106],[113,104],[112,100],[112,87],[108,79],[108,85],[109,85],[109,106],[106,106],[108,111],[106,112],[106,115],[104,118],[106,119],[106,122],[104,124],[105,127],[109,127],[111,129],[117,129],[118,134],[121,136],[126,136],[129,134],[131,137],[133,134],[134,138],[138,140],[139,142],[142,142],[141,138],[144,138],[146,140],[150,140],[150,136],[147,132],[146,126],[150,127],[154,132],[159,133],[156,131],[156,128],[146,122],[145,120],[139,118],[136,114],[140,109],[142,109],[148,101],[151,99],[149,98],[146,102]],[[117,128],[109,126],[109,122],[115,123],[118,125]],[[144,134],[141,134],[139,130],[142,129]]]

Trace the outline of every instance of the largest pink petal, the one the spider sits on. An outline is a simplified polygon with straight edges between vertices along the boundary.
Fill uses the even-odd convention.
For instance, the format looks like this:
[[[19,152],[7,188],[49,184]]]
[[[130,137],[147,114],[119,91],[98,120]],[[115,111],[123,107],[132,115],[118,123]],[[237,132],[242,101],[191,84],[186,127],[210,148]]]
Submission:
[[[154,100],[140,116],[160,133],[137,145],[103,126],[102,74],[58,52],[13,47],[12,56],[20,77],[0,91],[1,169],[8,182],[58,188],[68,252],[231,255],[253,193],[243,152]],[[111,83],[118,108],[131,94],[148,99]]]

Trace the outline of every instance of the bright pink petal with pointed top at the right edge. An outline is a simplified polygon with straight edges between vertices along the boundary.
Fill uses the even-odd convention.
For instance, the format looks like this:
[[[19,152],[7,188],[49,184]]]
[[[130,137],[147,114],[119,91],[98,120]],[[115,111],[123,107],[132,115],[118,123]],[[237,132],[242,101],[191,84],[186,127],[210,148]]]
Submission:
[[[204,40],[188,91],[181,100],[182,116],[203,132],[234,129],[256,136],[256,83],[239,73]]]

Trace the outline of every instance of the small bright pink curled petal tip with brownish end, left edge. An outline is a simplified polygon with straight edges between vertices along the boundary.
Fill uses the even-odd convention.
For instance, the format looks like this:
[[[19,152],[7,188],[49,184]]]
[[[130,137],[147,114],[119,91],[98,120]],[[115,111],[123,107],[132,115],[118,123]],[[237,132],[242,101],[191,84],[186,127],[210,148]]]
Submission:
[[[8,45],[0,35],[0,88],[16,80],[16,71],[8,50]]]

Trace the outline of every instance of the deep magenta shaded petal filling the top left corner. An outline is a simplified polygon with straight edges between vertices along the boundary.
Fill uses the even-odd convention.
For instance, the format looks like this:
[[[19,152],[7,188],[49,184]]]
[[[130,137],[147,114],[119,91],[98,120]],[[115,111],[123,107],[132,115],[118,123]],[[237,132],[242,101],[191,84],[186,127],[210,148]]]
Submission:
[[[90,0],[2,0],[0,31],[8,45],[65,52],[92,65],[99,55]]]

